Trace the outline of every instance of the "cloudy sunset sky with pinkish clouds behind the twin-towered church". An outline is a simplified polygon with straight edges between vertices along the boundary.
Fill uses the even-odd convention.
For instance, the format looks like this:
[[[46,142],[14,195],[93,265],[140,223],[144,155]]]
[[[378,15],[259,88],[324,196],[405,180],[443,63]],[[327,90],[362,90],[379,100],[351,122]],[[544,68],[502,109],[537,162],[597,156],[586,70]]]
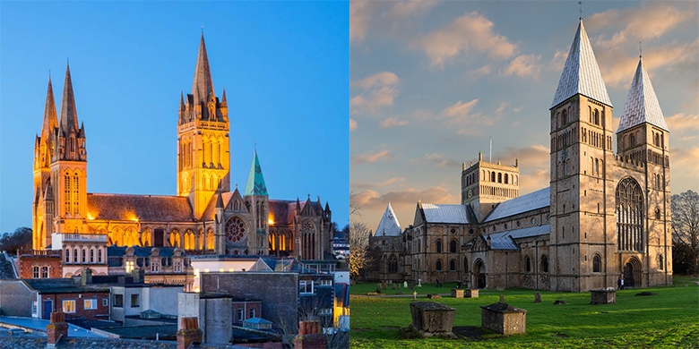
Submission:
[[[670,131],[673,193],[699,191],[696,2],[582,4],[614,127],[638,64]],[[548,186],[549,116],[577,2],[350,3],[350,190],[375,229],[418,200],[459,203],[462,163],[519,158],[520,194]]]

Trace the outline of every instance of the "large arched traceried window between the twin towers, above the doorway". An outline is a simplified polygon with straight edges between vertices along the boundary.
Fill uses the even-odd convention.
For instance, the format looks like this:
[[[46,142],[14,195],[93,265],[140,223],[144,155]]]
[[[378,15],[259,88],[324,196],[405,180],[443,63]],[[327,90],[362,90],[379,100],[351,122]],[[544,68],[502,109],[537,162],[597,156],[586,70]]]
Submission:
[[[631,177],[617,185],[617,248],[620,251],[643,251],[643,192]]]

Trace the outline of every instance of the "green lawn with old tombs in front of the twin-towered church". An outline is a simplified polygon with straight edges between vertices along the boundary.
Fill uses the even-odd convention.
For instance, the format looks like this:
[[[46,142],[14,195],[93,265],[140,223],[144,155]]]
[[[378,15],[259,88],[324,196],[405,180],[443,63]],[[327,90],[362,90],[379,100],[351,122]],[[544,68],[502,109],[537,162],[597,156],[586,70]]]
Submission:
[[[520,346],[535,348],[561,347],[630,347],[630,348],[699,348],[699,285],[689,277],[675,277],[677,287],[627,289],[617,292],[616,304],[591,305],[590,293],[540,292],[540,303],[534,302],[534,290],[481,290],[479,298],[436,300],[456,308],[454,327],[480,326],[480,306],[505,302],[527,310],[527,334],[503,337],[485,331],[487,340],[447,340],[440,338],[401,339],[399,328],[410,325],[412,296],[395,298],[366,297],[376,284],[352,285],[351,332],[352,348],[453,348],[470,346]],[[447,294],[455,284],[434,284],[416,287],[424,294]],[[408,289],[383,290],[384,294],[412,294]],[[635,296],[642,291],[652,296]],[[566,304],[554,305],[562,299]],[[427,300],[429,301],[429,300]]]

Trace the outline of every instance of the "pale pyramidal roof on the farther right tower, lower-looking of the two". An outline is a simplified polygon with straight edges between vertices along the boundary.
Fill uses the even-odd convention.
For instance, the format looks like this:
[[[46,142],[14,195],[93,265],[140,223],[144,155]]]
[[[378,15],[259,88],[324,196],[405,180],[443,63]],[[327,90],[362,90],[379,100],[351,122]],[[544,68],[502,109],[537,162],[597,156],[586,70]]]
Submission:
[[[658,97],[651,84],[651,78],[648,77],[648,72],[643,68],[643,57],[638,59],[638,67],[634,74],[634,80],[631,81],[631,88],[628,89],[624,114],[619,120],[617,132],[622,132],[641,123],[651,123],[669,132],[665,117],[660,110]]]

